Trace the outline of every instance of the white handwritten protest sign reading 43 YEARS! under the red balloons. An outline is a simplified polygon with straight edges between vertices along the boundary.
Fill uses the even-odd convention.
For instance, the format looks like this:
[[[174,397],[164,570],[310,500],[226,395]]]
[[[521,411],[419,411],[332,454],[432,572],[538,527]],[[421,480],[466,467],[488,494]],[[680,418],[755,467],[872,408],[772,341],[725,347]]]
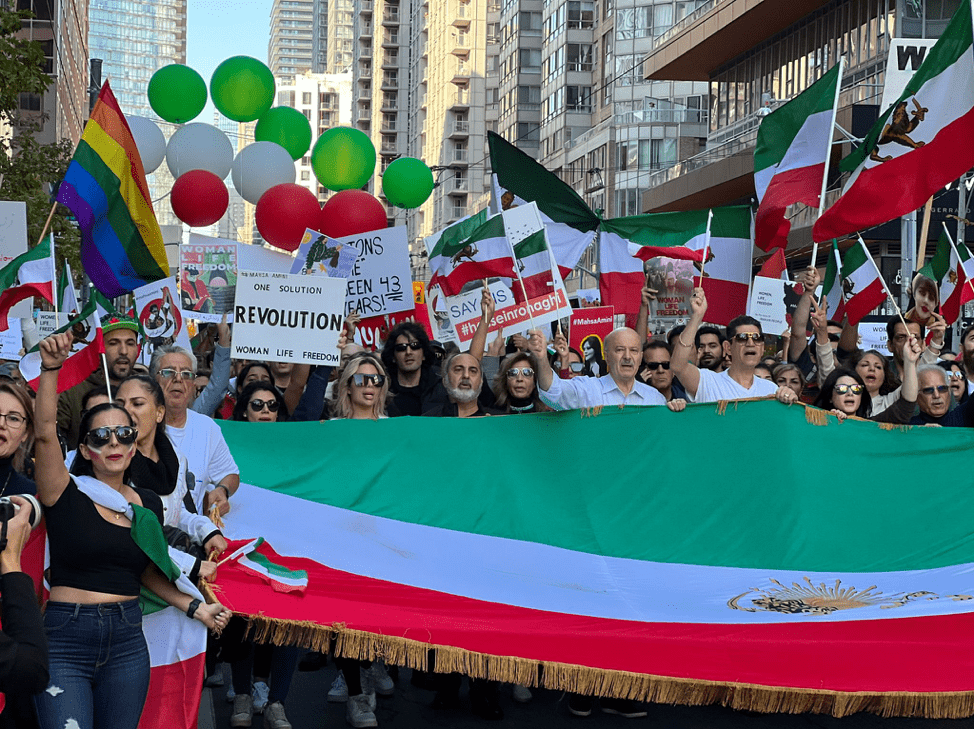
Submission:
[[[308,254],[313,245],[309,243],[303,254],[299,249],[291,273],[307,271],[310,275],[327,275],[320,266],[307,268]],[[410,287],[413,279],[409,272],[409,244],[405,226],[345,238],[329,238],[323,245],[332,249],[350,245],[358,252],[346,284],[346,315],[357,311],[363,317],[370,317],[412,310]]]

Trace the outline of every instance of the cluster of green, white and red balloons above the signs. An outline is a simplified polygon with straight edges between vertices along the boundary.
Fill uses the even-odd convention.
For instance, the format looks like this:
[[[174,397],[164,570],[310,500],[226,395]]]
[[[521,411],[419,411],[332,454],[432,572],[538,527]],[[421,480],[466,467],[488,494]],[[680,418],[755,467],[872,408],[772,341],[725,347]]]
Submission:
[[[240,196],[256,205],[255,222],[271,245],[294,250],[306,228],[334,238],[386,226],[382,203],[360,188],[375,171],[375,146],[368,135],[349,127],[323,133],[311,147],[311,124],[289,107],[274,107],[270,69],[255,58],[234,56],[210,79],[209,98],[238,122],[256,121],[255,141],[234,155],[227,135],[210,124],[192,122],[206,105],[207,86],[192,68],[165,66],[149,81],[149,104],[162,119],[183,124],[168,144],[159,127],[144,117],[127,117],[146,173],[163,162],[176,182],[170,195],[173,212],[191,227],[211,225],[226,213],[231,182]],[[295,184],[296,160],[311,150],[318,182],[335,192],[324,207],[308,188]],[[421,160],[400,157],[382,176],[389,204],[422,205],[433,191],[433,173]]]

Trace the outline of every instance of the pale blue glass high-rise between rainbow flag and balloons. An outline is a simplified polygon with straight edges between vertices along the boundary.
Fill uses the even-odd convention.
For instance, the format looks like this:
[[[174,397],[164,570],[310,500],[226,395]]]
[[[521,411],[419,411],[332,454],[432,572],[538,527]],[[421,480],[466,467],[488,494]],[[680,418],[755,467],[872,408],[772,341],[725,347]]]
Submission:
[[[88,23],[91,57],[102,60],[102,78],[110,80],[122,111],[154,119],[168,139],[176,126],[156,116],[147,90],[158,69],[186,63],[186,0],[90,0]],[[169,226],[180,225],[169,206],[174,180],[166,163],[147,181],[165,237]]]

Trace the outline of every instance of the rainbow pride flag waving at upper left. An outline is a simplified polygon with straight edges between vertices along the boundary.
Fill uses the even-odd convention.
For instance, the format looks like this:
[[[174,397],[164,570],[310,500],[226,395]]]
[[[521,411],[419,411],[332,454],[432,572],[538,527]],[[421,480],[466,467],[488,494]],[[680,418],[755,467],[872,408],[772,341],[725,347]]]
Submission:
[[[142,158],[107,81],[57,199],[78,219],[81,262],[105,296],[169,275]]]

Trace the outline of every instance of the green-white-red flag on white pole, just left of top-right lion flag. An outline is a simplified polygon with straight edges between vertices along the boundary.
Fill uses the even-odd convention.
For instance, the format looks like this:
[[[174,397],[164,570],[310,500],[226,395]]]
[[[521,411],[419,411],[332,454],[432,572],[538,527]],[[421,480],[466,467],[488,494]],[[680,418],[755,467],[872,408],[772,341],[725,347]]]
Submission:
[[[791,223],[785,211],[789,205],[820,206],[842,65],[833,66],[761,121],[754,148],[754,190],[758,197],[754,245],[761,250],[788,245]]]

